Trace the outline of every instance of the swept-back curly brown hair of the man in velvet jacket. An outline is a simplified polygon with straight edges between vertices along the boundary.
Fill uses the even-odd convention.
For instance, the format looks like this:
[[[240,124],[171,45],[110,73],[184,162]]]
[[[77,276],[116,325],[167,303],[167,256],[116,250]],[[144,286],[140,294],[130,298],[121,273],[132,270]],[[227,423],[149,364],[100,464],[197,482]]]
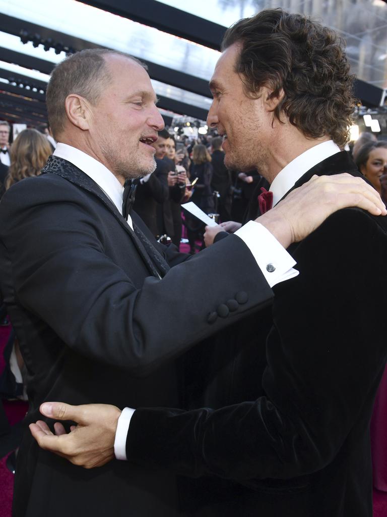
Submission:
[[[274,111],[281,112],[305,136],[330,135],[343,147],[355,99],[354,75],[343,41],[337,34],[302,14],[282,9],[265,9],[232,25],[222,50],[241,44],[235,71],[246,94],[258,98],[262,86],[272,88],[271,97],[284,97]]]

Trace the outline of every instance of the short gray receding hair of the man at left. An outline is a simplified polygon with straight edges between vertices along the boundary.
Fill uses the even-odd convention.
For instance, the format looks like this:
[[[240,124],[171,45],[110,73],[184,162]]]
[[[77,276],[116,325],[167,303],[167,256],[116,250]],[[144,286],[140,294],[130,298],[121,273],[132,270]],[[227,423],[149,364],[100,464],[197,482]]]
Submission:
[[[95,105],[103,89],[110,83],[111,77],[104,59],[109,54],[127,57],[147,69],[130,54],[110,49],[81,50],[59,63],[51,73],[46,93],[47,115],[55,140],[58,140],[65,126],[66,98],[77,94]]]

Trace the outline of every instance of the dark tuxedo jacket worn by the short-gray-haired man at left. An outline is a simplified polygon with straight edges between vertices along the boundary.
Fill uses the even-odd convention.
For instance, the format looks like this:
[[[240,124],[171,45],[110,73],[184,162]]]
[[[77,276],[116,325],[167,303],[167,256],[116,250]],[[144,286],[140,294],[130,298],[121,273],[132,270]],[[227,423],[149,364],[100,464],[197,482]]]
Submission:
[[[135,213],[133,223],[152,239]],[[0,204],[0,282],[28,370],[26,424],[47,400],[181,407],[173,359],[272,297],[244,242],[225,240],[221,254],[188,261],[155,242],[174,266],[159,280],[117,208],[66,160],[12,186]],[[229,300],[228,315],[218,307]],[[173,473],[120,461],[85,470],[26,428],[15,517],[171,517],[178,506]]]

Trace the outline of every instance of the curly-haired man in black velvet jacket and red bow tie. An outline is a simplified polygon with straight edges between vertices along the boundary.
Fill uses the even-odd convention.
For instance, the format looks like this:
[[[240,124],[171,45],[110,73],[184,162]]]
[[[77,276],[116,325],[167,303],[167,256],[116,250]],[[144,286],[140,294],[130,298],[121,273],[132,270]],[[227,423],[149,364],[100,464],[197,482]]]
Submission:
[[[267,9],[232,26],[222,49],[208,125],[223,135],[227,166],[256,168],[270,183],[259,205],[274,208],[265,215],[315,174],[360,175],[341,151],[353,78],[333,31]],[[125,429],[128,472],[134,462],[209,476],[198,480],[190,515],[371,517],[368,427],[387,356],[386,230],[382,218],[341,210],[289,247],[300,274],[275,286],[272,308],[196,355],[188,394],[205,408],[137,408],[128,427],[120,421],[117,435],[89,447],[88,434],[101,419],[117,422],[117,408],[48,404],[43,414],[81,426],[68,436],[33,426],[39,442],[61,453],[80,447],[84,462],[67,457],[91,466],[90,450],[109,450]],[[232,237],[206,251],[221,253]]]

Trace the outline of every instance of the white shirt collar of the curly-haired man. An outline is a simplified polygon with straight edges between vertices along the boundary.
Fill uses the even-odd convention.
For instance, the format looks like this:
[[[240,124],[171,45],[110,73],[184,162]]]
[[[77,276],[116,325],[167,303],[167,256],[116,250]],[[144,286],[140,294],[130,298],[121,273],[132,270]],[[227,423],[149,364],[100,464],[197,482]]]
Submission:
[[[301,176],[308,172],[312,167],[320,163],[322,160],[329,158],[336,153],[340,153],[338,147],[333,140],[322,142],[311,147],[294,160],[288,163],[282,171],[273,179],[270,185],[270,192],[273,193],[273,206],[275,206],[282,197],[288,192],[300,179]]]

